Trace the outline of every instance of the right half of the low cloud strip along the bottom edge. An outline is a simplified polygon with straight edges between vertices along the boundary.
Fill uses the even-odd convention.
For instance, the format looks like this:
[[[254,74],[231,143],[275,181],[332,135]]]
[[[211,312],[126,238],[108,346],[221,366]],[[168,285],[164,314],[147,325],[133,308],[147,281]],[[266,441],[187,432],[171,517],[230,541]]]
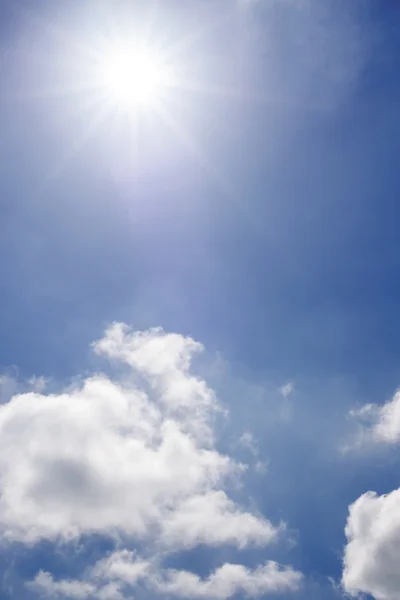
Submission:
[[[155,586],[159,592],[183,598],[215,598],[225,600],[242,593],[258,597],[268,593],[295,591],[302,576],[275,562],[267,562],[256,569],[225,563],[206,579],[188,571],[168,570],[158,577]]]

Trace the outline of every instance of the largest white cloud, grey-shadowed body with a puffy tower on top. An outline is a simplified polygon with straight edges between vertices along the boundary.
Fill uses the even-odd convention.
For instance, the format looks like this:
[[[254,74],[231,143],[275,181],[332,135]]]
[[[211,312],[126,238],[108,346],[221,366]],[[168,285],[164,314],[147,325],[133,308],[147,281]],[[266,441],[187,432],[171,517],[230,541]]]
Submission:
[[[179,521],[177,511],[190,498],[199,501],[204,494],[207,511],[207,494],[241,470],[212,444],[217,401],[189,373],[199,344],[115,325],[95,347],[128,362],[151,390],[95,376],[68,393],[20,394],[1,405],[0,527],[8,539],[157,536],[164,522]],[[220,524],[222,516],[214,516]],[[250,531],[249,517],[236,509],[236,523],[245,524],[244,537],[236,538],[240,545],[265,540],[266,527],[273,531],[262,519],[258,533]],[[232,518],[228,511],[227,522]],[[225,541],[224,530],[218,533],[214,525],[203,519],[203,531],[196,525],[195,535]],[[176,543],[185,546],[186,537],[193,543],[190,528]]]

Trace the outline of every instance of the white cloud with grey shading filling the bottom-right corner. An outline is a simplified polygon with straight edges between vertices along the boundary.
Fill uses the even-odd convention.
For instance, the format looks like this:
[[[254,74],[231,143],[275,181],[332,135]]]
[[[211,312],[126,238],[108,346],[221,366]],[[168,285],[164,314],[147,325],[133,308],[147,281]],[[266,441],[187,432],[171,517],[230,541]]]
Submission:
[[[343,586],[353,595],[397,600],[400,589],[400,489],[362,495],[350,506]]]

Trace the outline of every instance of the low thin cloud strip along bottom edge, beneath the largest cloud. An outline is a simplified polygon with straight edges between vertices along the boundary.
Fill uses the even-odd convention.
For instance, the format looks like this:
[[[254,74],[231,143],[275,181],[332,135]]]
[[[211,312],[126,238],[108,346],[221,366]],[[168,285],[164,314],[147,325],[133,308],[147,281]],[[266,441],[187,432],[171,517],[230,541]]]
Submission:
[[[29,587],[52,597],[86,600],[95,596],[101,600],[120,600],[140,581],[142,586],[163,597],[225,600],[237,593],[254,598],[271,593],[293,592],[302,581],[301,573],[273,561],[255,569],[225,563],[202,579],[189,571],[162,569],[156,562],[141,560],[127,550],[114,552],[98,562],[87,575],[85,582],[55,581],[49,573],[40,572]]]

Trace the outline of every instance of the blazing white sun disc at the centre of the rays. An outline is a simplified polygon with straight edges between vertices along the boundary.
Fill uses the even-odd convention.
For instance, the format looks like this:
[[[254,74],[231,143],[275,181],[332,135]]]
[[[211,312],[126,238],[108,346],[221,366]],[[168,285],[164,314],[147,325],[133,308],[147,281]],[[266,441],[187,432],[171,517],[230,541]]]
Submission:
[[[156,104],[171,85],[171,69],[150,48],[112,48],[99,67],[109,102],[123,109]]]

